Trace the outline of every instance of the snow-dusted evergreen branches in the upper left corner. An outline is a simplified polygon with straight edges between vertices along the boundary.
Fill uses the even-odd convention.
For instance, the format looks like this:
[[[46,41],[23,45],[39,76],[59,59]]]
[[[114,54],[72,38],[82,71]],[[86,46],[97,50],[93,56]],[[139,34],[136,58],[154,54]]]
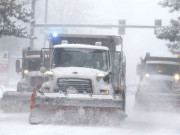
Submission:
[[[28,37],[25,23],[30,22],[30,0],[0,0],[0,37]]]

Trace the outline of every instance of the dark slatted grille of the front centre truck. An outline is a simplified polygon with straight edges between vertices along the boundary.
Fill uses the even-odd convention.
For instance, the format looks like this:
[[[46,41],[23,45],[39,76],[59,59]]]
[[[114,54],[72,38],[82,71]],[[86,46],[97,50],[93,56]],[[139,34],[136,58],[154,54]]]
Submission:
[[[67,78],[59,78],[57,80],[59,90],[63,92],[67,92],[67,90],[75,89],[78,93],[92,93],[92,83],[89,79],[67,79]]]

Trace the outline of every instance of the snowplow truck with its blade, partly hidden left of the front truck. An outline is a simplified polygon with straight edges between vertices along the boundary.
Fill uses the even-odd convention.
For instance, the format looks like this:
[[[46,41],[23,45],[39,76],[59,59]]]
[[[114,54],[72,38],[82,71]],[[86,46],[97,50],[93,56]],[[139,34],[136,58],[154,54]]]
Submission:
[[[39,89],[45,77],[39,71],[41,50],[23,50],[22,58],[16,60],[16,72],[22,75],[17,91],[6,91],[2,97],[2,109],[5,112],[30,111],[32,92]]]

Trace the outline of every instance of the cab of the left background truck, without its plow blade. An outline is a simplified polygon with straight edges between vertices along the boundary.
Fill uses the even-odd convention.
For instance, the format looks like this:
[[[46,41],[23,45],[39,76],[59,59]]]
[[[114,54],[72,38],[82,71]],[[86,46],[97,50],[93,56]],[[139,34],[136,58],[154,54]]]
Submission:
[[[17,84],[17,91],[33,92],[43,83],[40,50],[23,50],[22,59],[16,61],[16,72],[22,74],[22,79]]]

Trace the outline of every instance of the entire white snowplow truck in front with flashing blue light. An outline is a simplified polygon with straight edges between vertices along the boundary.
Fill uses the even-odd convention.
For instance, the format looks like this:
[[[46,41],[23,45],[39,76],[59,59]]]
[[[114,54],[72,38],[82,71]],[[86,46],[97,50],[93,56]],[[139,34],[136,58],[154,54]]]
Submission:
[[[125,56],[120,36],[50,36],[49,81],[32,94],[29,122],[114,124],[126,117]],[[43,50],[42,50],[43,51]]]

